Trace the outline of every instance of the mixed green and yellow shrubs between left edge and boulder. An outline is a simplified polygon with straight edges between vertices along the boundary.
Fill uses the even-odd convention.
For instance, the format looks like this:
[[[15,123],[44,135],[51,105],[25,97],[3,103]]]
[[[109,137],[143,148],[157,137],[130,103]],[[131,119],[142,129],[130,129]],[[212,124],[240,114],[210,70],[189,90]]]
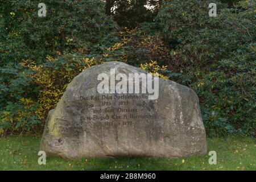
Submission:
[[[33,125],[44,123],[48,111],[55,108],[69,82],[80,72],[96,64],[100,64],[100,61],[88,59],[78,53],[68,53],[56,58],[47,56],[46,63],[41,65],[24,61],[16,69],[2,68],[2,73],[9,73],[9,76],[5,75],[6,78],[13,75],[13,80],[9,80],[10,85],[0,85],[1,103],[6,97],[9,98],[7,104],[2,106],[4,110],[0,117],[0,134],[3,131],[5,134],[30,131],[35,128]],[[18,69],[22,69],[24,75],[20,75]],[[42,129],[43,125],[36,128]]]

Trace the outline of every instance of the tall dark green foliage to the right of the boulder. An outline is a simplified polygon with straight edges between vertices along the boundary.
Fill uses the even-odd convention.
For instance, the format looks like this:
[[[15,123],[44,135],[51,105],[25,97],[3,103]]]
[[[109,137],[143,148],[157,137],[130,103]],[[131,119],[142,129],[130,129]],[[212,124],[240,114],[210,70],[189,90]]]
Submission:
[[[255,130],[255,3],[235,9],[210,1],[168,1],[156,22],[171,48],[170,67],[183,73],[177,81],[200,97],[208,134],[253,135]],[[157,28],[156,28],[157,29]]]

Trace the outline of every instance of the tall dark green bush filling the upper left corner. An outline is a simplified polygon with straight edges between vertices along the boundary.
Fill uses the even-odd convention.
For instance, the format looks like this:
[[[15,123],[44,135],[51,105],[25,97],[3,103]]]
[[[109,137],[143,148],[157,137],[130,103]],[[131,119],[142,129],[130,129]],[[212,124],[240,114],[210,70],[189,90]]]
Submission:
[[[46,17],[39,17],[38,2],[3,1],[0,14],[5,38],[18,36],[42,59],[52,51],[79,48],[88,51],[111,38],[115,24],[104,14],[104,3],[100,0],[45,3]]]

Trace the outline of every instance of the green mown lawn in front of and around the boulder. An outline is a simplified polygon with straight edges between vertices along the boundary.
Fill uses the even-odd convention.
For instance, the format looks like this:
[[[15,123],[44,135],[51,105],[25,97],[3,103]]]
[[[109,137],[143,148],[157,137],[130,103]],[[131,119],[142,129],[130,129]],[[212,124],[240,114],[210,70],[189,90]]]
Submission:
[[[38,164],[40,138],[0,138],[0,170],[255,170],[255,138],[208,138],[208,151],[217,152],[217,164],[210,156],[179,159],[118,158],[66,161],[49,158]]]

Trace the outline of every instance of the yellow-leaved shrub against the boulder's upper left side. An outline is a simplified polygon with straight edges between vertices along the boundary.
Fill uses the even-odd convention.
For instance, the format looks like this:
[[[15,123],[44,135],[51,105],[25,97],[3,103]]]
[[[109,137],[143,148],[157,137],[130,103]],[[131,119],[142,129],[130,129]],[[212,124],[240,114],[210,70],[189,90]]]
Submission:
[[[36,65],[35,63],[23,63],[24,67],[31,68],[34,74],[31,76],[39,86],[38,102],[36,113],[39,119],[44,121],[48,111],[54,109],[57,102],[65,91],[65,88],[72,79],[80,72],[92,65],[100,64],[92,58],[80,54],[64,54],[59,57],[47,56],[46,63]],[[61,78],[61,79],[60,79]]]

